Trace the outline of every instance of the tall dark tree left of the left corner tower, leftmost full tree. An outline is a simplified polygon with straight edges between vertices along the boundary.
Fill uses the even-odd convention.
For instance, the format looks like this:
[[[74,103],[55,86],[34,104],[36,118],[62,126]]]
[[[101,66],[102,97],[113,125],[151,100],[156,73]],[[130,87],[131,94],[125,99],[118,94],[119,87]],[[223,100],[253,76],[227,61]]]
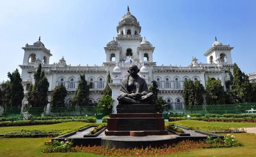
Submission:
[[[20,77],[19,70],[16,69],[12,73],[8,72],[8,78],[10,79],[10,89],[8,90],[9,106],[20,106],[24,98],[24,88],[22,85],[22,79]]]

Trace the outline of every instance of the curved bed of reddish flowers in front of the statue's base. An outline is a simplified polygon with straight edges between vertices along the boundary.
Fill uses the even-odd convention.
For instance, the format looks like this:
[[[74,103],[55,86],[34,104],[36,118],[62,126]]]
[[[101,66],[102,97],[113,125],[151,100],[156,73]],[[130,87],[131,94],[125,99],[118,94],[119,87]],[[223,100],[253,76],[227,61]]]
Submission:
[[[56,152],[86,152],[97,155],[111,155],[111,156],[159,156],[169,155],[174,153],[185,152],[194,149],[203,148],[219,148],[240,146],[233,135],[226,135],[223,139],[212,139],[209,137],[206,141],[182,141],[177,144],[163,146],[160,148],[146,147],[142,149],[116,149],[103,146],[76,146],[72,147],[72,141],[48,141],[42,149],[43,153],[56,153]]]

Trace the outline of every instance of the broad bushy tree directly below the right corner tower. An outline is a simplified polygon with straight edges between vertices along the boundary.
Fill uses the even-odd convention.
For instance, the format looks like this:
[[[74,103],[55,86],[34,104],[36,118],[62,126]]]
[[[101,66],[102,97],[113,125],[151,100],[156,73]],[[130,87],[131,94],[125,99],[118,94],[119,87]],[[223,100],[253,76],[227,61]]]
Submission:
[[[221,80],[211,80],[208,77],[206,82],[206,102],[210,105],[224,104],[225,92]]]

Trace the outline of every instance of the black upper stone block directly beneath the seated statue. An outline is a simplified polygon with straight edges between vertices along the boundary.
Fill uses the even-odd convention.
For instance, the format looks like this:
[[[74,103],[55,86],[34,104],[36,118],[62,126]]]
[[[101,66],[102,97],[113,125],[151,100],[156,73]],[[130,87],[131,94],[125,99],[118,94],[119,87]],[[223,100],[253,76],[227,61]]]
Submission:
[[[118,104],[117,113],[155,113],[154,104]]]

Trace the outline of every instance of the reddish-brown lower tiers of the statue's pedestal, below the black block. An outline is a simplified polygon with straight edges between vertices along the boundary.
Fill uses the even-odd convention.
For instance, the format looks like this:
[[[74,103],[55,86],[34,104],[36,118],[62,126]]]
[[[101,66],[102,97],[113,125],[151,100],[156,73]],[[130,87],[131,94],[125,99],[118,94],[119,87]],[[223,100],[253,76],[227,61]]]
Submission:
[[[167,135],[164,118],[160,113],[111,114],[108,118],[109,136]]]

